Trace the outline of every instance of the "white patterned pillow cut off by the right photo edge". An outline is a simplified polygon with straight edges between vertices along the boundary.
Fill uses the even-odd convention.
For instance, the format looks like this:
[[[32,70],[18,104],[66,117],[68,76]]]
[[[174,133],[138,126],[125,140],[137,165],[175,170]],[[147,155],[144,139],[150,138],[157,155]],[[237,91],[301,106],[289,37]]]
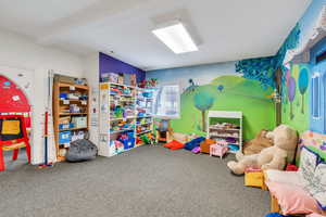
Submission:
[[[326,210],[326,163],[321,163],[315,169],[313,182],[308,186],[310,194],[318,202],[321,208]]]

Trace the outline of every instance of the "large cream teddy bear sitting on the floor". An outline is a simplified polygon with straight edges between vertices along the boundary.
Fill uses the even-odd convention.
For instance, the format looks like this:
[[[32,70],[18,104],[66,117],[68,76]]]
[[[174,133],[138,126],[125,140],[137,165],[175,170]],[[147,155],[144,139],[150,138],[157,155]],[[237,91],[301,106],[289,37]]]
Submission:
[[[296,130],[287,125],[279,125],[273,131],[267,132],[266,137],[273,140],[273,146],[252,155],[243,155],[241,152],[237,152],[236,158],[238,162],[228,162],[228,168],[236,175],[242,175],[247,167],[281,170],[287,163],[293,162],[298,144]]]

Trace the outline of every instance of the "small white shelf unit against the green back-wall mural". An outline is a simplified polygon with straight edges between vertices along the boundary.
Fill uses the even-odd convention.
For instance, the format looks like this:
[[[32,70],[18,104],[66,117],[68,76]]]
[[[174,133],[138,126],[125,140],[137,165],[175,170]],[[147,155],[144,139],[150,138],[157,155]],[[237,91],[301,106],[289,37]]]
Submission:
[[[211,119],[238,119],[239,128],[223,128],[211,125]],[[208,139],[221,140],[226,138],[234,138],[237,140],[235,144],[239,145],[239,151],[242,152],[242,112],[229,112],[229,111],[209,111],[206,119]],[[229,153],[235,153],[229,151]]]

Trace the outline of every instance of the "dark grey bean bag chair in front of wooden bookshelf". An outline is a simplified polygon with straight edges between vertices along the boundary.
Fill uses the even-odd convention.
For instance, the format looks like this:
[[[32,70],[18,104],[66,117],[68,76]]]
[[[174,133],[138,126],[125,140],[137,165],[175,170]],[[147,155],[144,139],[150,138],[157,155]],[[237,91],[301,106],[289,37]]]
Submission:
[[[85,162],[95,159],[98,154],[98,148],[87,139],[73,141],[65,158],[67,162]]]

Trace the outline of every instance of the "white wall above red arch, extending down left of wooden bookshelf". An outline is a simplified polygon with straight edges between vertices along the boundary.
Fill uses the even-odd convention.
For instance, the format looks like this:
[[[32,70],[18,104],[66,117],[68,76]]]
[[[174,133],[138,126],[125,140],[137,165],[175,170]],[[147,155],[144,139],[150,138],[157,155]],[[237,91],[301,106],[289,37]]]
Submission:
[[[84,64],[78,55],[46,48],[33,40],[9,31],[0,30],[0,69],[11,68],[1,74],[25,71],[34,74],[33,105],[33,164],[43,159],[42,122],[47,102],[47,75],[49,69],[64,75],[84,77]],[[53,154],[53,153],[52,153]]]

